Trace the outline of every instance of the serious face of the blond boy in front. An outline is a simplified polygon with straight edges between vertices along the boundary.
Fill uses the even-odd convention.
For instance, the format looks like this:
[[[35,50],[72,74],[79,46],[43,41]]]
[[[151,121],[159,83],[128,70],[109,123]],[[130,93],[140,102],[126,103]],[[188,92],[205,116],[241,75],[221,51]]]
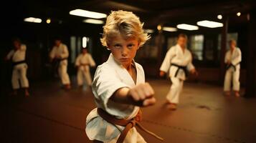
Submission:
[[[123,39],[123,36],[118,35],[108,44],[108,49],[111,50],[115,61],[123,66],[130,66],[136,56],[138,39]]]

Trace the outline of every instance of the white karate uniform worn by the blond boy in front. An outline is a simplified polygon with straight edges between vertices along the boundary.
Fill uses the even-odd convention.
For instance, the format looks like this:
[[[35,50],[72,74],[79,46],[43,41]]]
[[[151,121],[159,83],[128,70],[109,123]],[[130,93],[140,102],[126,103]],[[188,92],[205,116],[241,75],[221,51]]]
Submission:
[[[145,83],[143,67],[136,65],[137,79],[136,84]],[[110,100],[113,93],[122,87],[134,87],[131,75],[128,71],[118,64],[113,55],[110,54],[108,61],[98,66],[93,79],[93,94],[98,108],[101,108],[115,116],[118,119],[132,119],[136,117],[139,107],[130,104],[120,104]],[[118,125],[117,125],[118,126]],[[91,140],[102,142],[117,142],[120,132],[124,127],[115,127],[113,124],[106,122],[98,115],[97,109],[93,109],[87,115],[85,132]],[[125,137],[124,142],[145,142],[143,137],[133,127]]]

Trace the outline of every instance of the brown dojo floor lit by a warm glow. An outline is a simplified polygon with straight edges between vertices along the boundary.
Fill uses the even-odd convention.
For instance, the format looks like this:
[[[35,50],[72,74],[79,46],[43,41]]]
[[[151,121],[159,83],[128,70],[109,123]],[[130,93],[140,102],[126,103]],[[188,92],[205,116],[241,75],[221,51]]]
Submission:
[[[164,79],[148,82],[157,103],[143,108],[142,124],[170,143],[256,142],[256,99],[224,97],[222,87],[185,83],[178,110],[163,105],[170,83]],[[85,119],[95,108],[90,89],[70,91],[57,81],[33,83],[32,96],[4,97],[1,101],[0,142],[90,142]],[[141,132],[139,130],[139,132]],[[158,140],[141,132],[147,142]]]

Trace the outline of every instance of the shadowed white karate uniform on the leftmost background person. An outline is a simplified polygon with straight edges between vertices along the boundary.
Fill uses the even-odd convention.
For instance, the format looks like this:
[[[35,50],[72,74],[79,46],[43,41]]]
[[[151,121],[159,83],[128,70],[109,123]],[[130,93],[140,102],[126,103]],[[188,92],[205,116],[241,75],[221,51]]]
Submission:
[[[22,62],[25,60],[26,49],[26,45],[22,44],[20,49],[13,49],[7,55],[7,59],[11,59],[13,64],[16,63],[13,67],[11,76],[11,84],[13,89],[19,89],[19,80],[23,88],[29,87],[29,80],[27,79],[27,64]],[[19,62],[20,64],[17,64]]]

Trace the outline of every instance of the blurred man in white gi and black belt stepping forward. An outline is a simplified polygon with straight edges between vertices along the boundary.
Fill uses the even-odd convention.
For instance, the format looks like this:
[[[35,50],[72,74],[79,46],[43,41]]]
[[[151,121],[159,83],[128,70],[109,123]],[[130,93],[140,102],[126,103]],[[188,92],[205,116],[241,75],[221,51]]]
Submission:
[[[166,104],[171,110],[175,110],[179,104],[179,95],[181,94],[184,80],[190,72],[197,74],[192,64],[191,52],[186,49],[187,36],[179,34],[177,44],[171,46],[160,68],[160,76],[163,77],[169,71],[171,78],[171,89],[166,96]]]

